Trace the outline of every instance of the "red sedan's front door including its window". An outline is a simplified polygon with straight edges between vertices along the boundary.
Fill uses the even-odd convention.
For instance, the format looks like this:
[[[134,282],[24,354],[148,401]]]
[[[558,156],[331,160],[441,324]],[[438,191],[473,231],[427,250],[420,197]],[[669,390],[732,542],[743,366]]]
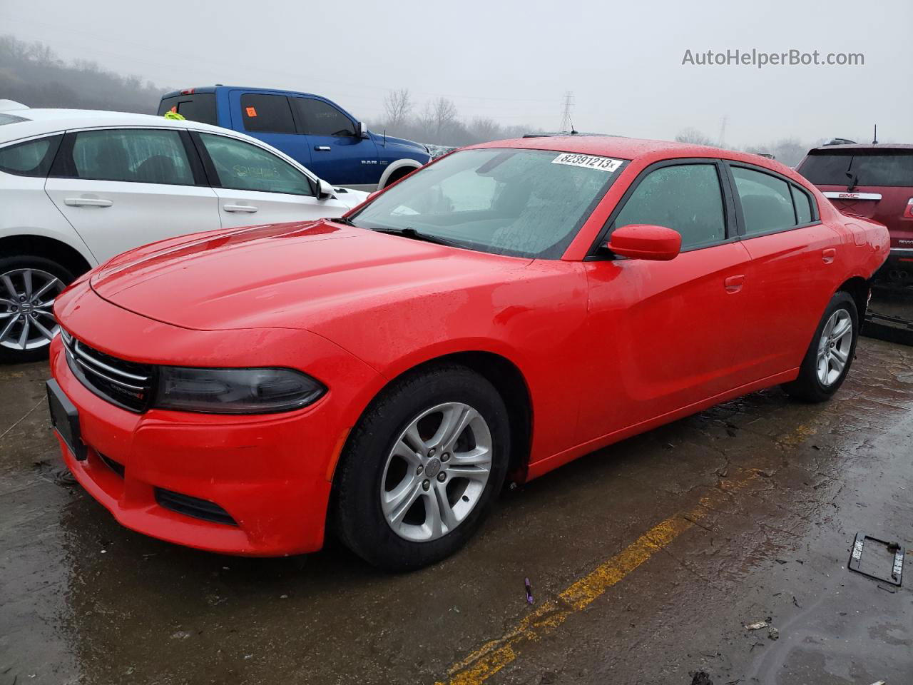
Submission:
[[[709,159],[655,164],[638,176],[610,218],[610,230],[629,224],[676,230],[682,236],[677,258],[584,262],[589,342],[602,361],[582,403],[581,441],[744,382],[741,317],[749,256],[738,241],[731,203],[724,202],[729,184],[722,174],[721,164]]]

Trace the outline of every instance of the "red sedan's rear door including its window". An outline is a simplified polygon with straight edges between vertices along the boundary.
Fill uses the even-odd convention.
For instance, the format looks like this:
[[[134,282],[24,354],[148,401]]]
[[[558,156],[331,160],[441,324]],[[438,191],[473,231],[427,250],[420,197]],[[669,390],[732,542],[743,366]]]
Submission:
[[[751,264],[741,320],[745,371],[755,379],[802,364],[846,258],[840,234],[824,225],[813,195],[750,164],[729,163],[742,245]]]

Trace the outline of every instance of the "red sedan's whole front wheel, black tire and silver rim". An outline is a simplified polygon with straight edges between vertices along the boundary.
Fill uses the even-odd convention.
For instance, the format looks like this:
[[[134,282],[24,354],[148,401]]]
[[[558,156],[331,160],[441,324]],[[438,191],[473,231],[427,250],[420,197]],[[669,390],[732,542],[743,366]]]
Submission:
[[[335,479],[342,542],[404,571],[456,552],[481,524],[507,473],[507,408],[459,365],[411,374],[353,429]]]

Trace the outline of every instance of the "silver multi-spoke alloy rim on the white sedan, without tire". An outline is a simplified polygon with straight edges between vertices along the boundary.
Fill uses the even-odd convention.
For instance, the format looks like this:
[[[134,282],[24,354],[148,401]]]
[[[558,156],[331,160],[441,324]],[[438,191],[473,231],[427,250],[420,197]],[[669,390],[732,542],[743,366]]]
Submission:
[[[64,288],[41,269],[0,274],[0,346],[25,352],[49,344],[59,331],[51,308]]]

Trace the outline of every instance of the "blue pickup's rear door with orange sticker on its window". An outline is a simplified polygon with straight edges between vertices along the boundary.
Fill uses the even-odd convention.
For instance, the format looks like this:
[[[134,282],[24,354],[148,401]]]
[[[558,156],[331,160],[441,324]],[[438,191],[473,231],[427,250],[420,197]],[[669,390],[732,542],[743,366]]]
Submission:
[[[310,169],[310,143],[295,127],[288,97],[232,90],[228,102],[235,131],[272,145]]]

